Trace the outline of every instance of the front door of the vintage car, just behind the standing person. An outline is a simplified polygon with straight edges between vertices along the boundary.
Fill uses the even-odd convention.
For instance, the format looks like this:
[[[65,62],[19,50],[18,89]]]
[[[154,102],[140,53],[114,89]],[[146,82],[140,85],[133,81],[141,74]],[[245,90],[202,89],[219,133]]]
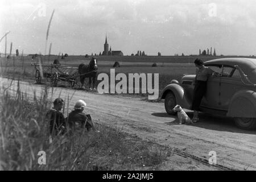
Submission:
[[[209,68],[221,74],[222,65],[209,65]],[[218,109],[220,102],[220,77],[212,76],[207,80],[207,92],[201,102],[202,110],[205,109]]]

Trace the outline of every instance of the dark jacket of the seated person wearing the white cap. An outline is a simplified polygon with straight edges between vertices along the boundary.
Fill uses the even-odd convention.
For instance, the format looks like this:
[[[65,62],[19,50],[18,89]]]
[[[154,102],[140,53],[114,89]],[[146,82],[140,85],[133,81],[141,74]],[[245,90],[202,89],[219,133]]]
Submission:
[[[94,124],[89,114],[83,113],[81,110],[73,110],[68,114],[67,122],[71,129],[90,129],[94,130]]]

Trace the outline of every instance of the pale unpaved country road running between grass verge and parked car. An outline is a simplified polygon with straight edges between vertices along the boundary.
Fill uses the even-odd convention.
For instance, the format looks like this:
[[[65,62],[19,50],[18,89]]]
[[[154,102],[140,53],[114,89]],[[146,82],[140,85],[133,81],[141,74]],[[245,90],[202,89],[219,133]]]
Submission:
[[[7,78],[0,78],[0,86],[7,88],[10,82]],[[13,82],[10,92],[15,92],[17,83]],[[32,98],[34,93],[40,96],[43,86],[21,81],[20,90]],[[199,123],[177,125],[177,118],[166,114],[163,103],[53,88],[53,99],[59,96],[66,101],[72,97],[69,110],[72,110],[77,100],[83,99],[88,106],[86,112],[92,114],[94,121],[171,148],[176,155],[172,163],[180,165],[179,169],[256,170],[256,131],[237,129],[232,119],[201,114]],[[192,113],[188,114],[191,116]],[[215,167],[208,164],[210,151],[217,154]]]

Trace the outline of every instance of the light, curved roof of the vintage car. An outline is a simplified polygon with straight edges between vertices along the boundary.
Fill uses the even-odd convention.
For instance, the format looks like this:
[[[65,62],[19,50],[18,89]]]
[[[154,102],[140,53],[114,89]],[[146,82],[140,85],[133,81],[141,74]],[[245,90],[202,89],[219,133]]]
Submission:
[[[243,57],[230,57],[205,61],[205,65],[226,65],[234,67],[238,65],[243,72],[253,81],[256,81],[256,59]]]

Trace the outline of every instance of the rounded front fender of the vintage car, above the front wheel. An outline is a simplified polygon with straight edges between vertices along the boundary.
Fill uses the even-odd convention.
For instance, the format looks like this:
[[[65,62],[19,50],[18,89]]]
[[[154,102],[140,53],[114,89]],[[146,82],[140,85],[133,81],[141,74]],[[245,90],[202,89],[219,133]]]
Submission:
[[[161,99],[166,98],[166,95],[167,95],[168,92],[174,93],[174,96],[176,98],[176,103],[178,105],[180,105],[181,107],[183,107],[185,109],[189,109],[189,104],[188,104],[187,100],[185,100],[184,89],[182,88],[182,86],[180,86],[178,84],[167,85],[163,89],[163,92],[162,92],[160,98]]]

